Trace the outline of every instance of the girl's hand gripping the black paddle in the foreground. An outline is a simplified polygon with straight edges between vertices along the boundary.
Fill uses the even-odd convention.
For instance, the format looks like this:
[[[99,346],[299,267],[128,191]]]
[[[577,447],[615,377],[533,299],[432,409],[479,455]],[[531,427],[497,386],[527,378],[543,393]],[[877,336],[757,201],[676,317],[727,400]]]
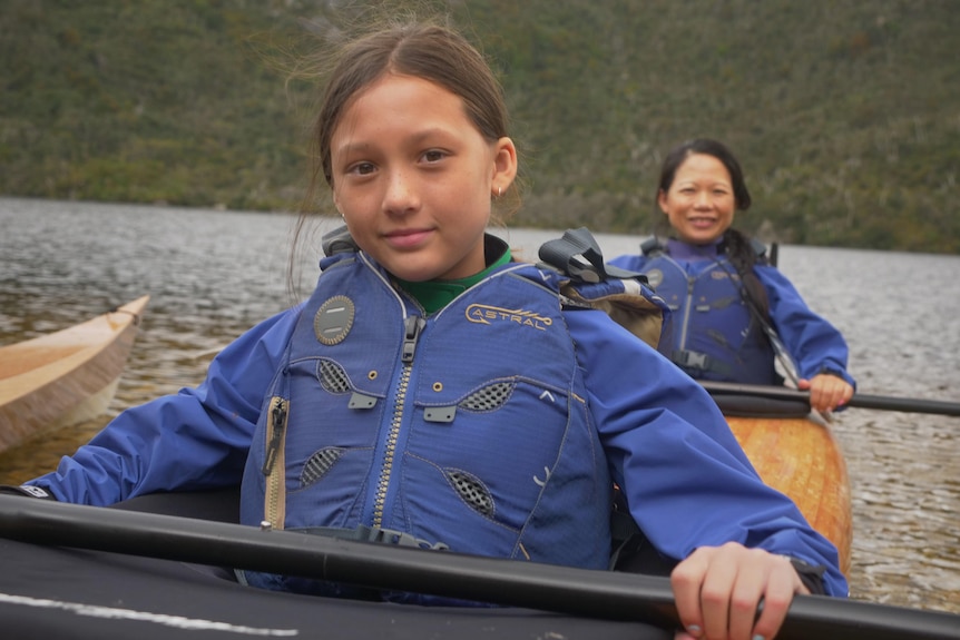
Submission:
[[[790,559],[735,542],[694,551],[670,585],[684,627],[675,640],[772,640],[793,594],[810,593]]]

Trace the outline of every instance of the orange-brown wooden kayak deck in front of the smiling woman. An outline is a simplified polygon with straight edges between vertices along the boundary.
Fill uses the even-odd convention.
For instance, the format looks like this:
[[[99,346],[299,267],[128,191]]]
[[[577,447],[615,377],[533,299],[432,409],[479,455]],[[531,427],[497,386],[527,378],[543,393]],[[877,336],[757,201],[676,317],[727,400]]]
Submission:
[[[714,400],[763,481],[792,498],[811,526],[836,545],[840,568],[848,573],[853,539],[850,479],[829,425],[796,403],[736,398],[731,406],[716,395]],[[743,403],[751,400],[755,404],[745,411]]]

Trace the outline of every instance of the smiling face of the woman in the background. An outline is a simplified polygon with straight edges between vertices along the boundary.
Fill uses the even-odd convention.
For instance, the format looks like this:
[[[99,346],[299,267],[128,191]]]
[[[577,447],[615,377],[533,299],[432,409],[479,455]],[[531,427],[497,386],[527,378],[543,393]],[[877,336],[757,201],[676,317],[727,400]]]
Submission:
[[[706,245],[733,224],[736,210],[729,171],[706,154],[694,154],[677,167],[669,190],[657,196],[679,239]]]

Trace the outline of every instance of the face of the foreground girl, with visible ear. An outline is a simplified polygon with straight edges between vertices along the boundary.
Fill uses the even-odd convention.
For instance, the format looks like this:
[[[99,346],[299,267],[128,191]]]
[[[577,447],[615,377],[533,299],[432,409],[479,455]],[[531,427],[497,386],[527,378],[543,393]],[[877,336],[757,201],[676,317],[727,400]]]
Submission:
[[[512,183],[517,150],[486,140],[459,96],[388,73],[353,98],[330,150],[336,208],[386,270],[424,282],[486,268],[491,198]]]

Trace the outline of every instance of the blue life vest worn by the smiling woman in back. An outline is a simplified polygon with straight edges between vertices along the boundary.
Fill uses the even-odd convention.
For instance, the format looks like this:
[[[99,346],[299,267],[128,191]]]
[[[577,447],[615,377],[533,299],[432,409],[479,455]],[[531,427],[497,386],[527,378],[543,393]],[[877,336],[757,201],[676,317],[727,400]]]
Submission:
[[[672,312],[668,353],[675,364],[697,380],[782,383],[774,349],[725,255],[688,273],[659,243],[645,243],[643,250],[643,272]]]

